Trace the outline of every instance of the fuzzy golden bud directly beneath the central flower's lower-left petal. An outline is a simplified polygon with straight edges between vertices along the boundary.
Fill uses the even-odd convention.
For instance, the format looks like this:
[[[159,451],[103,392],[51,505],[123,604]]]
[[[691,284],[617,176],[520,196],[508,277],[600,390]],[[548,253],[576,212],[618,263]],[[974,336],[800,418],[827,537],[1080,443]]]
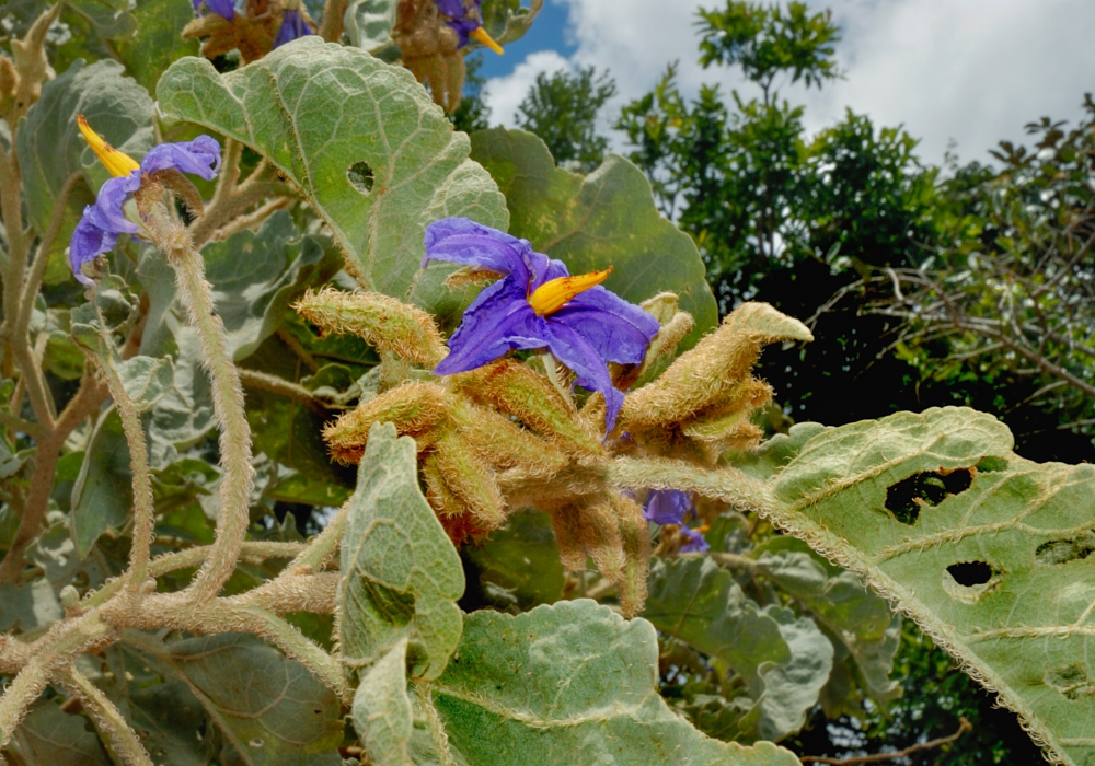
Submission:
[[[572,455],[601,455],[600,440],[577,419],[574,403],[544,375],[512,359],[454,376],[474,402],[493,405]]]

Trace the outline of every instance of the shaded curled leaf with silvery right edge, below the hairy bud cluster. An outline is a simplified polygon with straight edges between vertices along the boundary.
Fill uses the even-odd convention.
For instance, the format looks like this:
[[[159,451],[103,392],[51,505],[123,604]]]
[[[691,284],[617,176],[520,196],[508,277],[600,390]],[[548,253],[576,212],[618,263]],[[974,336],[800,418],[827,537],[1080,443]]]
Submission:
[[[776,741],[802,728],[832,670],[832,645],[808,617],[761,607],[710,558],[656,560],[649,590],[647,619],[745,680],[756,704],[737,739]]]

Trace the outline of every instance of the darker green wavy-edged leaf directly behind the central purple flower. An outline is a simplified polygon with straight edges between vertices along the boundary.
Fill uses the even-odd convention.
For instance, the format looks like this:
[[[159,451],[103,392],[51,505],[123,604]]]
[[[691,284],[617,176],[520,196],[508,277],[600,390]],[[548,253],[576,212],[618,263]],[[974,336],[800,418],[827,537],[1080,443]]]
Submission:
[[[506,128],[474,134],[472,159],[506,195],[510,234],[558,258],[570,274],[612,266],[604,287],[632,303],[677,293],[695,320],[681,349],[715,326],[718,311],[695,244],[661,217],[649,182],[631,162],[610,154],[583,176],[556,167],[538,137]]]

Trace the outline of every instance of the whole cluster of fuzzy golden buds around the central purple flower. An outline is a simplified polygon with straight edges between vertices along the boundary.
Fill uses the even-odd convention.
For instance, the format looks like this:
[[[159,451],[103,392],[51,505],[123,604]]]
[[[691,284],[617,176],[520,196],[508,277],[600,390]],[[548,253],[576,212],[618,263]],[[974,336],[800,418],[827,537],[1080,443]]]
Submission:
[[[812,337],[771,306],[747,303],[645,382],[693,327],[675,295],[657,295],[644,304],[661,323],[646,359],[613,370],[618,384],[641,387],[627,395],[613,434],[604,434],[601,395],[579,407],[557,379],[535,369],[540,360],[503,358],[456,375],[429,374],[446,348],[419,309],[330,289],[309,293],[296,307],[324,332],[353,333],[373,345],[380,378],[389,382],[327,425],[324,439],[335,460],[360,461],[372,425],[394,423],[414,438],[427,499],[454,542],[482,537],[511,511],[533,507],[551,517],[564,566],[583,571],[591,558],[618,587],[629,615],[646,596],[649,525],[624,491],[645,487],[614,484],[612,461],[671,456],[710,465],[726,449],[753,445],[760,430],[750,416],[772,395],[750,374],[761,347]]]

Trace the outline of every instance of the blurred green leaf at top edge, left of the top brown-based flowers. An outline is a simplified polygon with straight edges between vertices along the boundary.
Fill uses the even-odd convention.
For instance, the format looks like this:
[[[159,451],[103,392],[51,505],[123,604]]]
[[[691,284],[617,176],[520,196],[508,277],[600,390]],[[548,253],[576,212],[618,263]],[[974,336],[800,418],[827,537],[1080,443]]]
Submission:
[[[137,34],[116,48],[126,69],[145,88],[155,85],[172,62],[197,56],[198,42],[182,37],[183,27],[194,20],[189,0],[138,0],[132,14]]]

